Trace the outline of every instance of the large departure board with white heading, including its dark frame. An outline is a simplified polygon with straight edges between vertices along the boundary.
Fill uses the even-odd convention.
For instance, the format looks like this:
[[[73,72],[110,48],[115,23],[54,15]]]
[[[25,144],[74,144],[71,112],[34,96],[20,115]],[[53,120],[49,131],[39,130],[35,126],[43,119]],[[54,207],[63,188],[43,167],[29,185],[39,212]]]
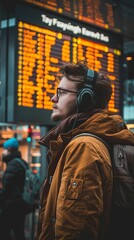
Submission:
[[[30,13],[30,14],[29,14]],[[36,16],[36,17],[35,17]],[[51,98],[62,64],[86,60],[112,81],[110,111],[120,113],[122,38],[42,10],[16,8],[8,28],[7,122],[52,125]],[[3,41],[4,42],[4,41]]]

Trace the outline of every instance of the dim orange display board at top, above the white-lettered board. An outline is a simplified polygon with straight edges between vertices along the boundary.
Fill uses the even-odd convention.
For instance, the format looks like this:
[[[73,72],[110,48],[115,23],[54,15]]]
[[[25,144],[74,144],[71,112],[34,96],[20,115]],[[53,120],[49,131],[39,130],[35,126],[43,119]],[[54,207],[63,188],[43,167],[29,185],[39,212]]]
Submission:
[[[121,32],[120,5],[110,0],[22,0],[59,14]]]

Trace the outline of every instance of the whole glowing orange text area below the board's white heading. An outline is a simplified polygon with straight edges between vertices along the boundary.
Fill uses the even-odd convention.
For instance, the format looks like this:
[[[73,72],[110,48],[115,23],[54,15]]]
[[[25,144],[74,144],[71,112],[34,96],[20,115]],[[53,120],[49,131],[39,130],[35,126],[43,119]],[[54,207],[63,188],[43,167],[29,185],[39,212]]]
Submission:
[[[75,38],[27,23],[18,24],[18,106],[52,110],[56,91],[55,76],[62,62],[85,60],[91,69],[108,73],[114,89],[119,90],[121,52],[105,45]],[[72,59],[71,59],[72,55]],[[119,94],[109,109],[118,112]]]

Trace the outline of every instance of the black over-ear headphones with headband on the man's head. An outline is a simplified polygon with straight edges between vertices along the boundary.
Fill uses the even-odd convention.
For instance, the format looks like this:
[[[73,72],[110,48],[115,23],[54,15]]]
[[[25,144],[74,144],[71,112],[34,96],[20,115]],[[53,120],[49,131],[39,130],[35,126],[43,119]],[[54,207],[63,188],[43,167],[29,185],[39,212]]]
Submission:
[[[96,103],[93,86],[97,79],[97,72],[88,69],[85,77],[85,86],[77,93],[78,112],[89,112],[94,109]]]

